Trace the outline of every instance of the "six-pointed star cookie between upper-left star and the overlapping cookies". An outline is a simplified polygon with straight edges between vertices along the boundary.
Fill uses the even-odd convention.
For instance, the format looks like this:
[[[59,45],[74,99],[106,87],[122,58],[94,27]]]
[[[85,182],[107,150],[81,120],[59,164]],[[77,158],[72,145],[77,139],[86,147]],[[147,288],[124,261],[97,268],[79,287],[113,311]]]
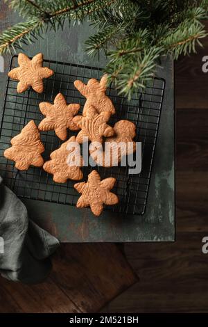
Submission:
[[[41,102],[40,111],[46,118],[40,122],[40,131],[54,130],[55,134],[62,140],[67,138],[67,128],[77,131],[79,127],[73,122],[72,118],[80,109],[79,104],[67,104],[64,96],[58,93],[54,99],[54,104]]]

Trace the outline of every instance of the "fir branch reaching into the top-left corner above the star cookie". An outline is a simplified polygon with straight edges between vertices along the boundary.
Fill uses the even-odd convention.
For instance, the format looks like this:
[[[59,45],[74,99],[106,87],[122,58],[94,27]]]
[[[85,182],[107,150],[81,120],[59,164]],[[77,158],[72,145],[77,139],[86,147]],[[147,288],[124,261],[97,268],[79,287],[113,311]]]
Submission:
[[[10,47],[15,51],[15,47],[19,47],[22,41],[33,41],[35,34],[39,35],[40,26],[43,27],[45,25],[48,27],[50,23],[51,27],[56,31],[59,27],[63,28],[66,17],[69,19],[69,22],[72,19],[83,20],[86,15],[100,10],[101,8],[99,6],[107,6],[115,1],[56,0],[54,3],[53,1],[42,0],[11,0],[11,8],[18,10],[22,16],[33,17],[33,19],[16,24],[0,35],[0,53],[10,52]],[[71,6],[66,6],[69,3],[71,3]]]

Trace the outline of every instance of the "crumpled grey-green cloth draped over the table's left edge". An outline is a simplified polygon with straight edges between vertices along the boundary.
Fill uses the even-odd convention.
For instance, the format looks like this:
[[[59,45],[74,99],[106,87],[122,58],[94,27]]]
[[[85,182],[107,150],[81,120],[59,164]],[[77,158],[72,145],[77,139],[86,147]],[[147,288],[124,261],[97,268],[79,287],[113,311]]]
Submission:
[[[59,241],[28,218],[25,205],[0,177],[0,273],[8,280],[41,282]]]

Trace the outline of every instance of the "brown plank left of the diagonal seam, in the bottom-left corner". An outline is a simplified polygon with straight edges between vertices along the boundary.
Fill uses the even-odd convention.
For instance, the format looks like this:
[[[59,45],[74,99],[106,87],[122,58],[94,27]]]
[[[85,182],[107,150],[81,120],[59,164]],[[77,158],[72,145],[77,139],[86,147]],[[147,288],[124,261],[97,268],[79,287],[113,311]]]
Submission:
[[[22,285],[0,278],[0,312],[80,312],[51,278],[39,285]]]

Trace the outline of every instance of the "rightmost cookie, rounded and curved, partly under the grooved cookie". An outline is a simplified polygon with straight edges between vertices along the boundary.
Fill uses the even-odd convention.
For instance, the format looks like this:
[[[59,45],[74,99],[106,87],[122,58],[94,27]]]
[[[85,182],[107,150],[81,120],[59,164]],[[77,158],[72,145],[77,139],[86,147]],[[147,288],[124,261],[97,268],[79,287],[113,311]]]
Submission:
[[[89,145],[92,159],[103,167],[118,166],[124,156],[136,150],[133,138],[136,136],[136,126],[128,120],[119,120],[114,125],[115,136],[106,138],[105,151],[101,143]]]

